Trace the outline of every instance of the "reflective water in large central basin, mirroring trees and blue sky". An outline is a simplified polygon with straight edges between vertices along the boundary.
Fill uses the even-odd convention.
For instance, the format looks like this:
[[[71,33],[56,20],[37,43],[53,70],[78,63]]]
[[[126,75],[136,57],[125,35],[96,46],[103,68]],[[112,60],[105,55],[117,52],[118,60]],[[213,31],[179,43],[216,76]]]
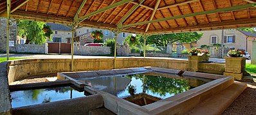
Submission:
[[[181,78],[182,79],[175,79],[171,77],[136,74],[84,79],[81,80],[81,82],[120,98],[131,96],[129,86],[134,86],[134,89],[136,89],[135,95],[145,93],[161,99],[177,95],[190,88],[194,88],[194,86],[200,86],[206,83],[205,81],[199,81],[197,79]]]

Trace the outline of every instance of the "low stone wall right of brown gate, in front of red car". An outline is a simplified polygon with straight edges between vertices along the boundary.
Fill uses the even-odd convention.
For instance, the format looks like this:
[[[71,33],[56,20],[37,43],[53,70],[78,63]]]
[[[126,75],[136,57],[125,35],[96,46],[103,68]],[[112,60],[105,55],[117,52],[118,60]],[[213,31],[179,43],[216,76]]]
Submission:
[[[111,54],[111,47],[99,47],[99,46],[74,46],[75,55],[109,55]]]

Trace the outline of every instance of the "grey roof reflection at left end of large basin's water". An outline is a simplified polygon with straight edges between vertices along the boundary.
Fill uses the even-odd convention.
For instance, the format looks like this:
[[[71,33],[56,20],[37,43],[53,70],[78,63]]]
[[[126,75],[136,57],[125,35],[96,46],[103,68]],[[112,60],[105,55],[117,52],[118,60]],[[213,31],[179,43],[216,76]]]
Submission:
[[[114,77],[85,79],[82,82],[89,84],[93,88],[114,94]],[[116,76],[116,93],[124,91],[130,82],[131,79],[127,77]]]

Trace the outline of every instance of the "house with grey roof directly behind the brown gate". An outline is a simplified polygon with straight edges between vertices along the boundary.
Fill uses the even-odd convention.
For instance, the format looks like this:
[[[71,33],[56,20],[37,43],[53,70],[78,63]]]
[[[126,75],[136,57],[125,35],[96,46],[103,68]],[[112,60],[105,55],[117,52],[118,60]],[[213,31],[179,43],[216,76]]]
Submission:
[[[51,26],[52,41],[48,40],[48,43],[51,42],[61,42],[61,43],[70,43],[72,38],[71,28],[64,26],[62,24],[46,23],[46,26]]]

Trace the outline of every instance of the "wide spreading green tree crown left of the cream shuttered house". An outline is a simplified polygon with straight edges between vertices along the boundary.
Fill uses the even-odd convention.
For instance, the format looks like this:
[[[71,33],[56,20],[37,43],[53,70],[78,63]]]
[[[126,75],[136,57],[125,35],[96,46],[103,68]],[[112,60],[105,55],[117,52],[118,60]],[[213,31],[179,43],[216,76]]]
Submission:
[[[181,42],[189,43],[200,40],[203,33],[170,33],[170,34],[154,34],[147,38],[147,44],[155,44],[156,46],[166,47],[167,43]]]

